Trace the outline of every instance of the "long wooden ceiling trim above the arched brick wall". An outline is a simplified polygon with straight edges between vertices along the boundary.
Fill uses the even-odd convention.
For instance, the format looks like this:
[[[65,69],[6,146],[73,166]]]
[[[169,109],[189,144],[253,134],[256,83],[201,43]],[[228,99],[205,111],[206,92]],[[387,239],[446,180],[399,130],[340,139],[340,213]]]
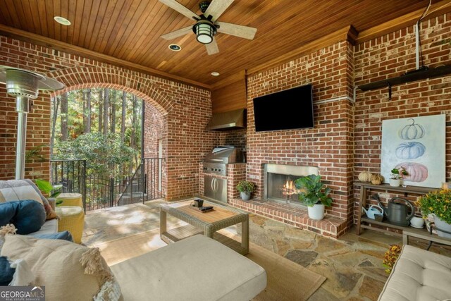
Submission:
[[[196,87],[202,87],[206,90],[211,90],[210,85],[206,85],[202,82],[197,82],[195,80],[189,80],[187,78],[182,78],[178,75],[172,75],[166,72],[156,70],[154,68],[145,67],[137,63],[131,63],[122,59],[117,59],[113,56],[108,56],[106,54],[100,54],[99,52],[71,45],[65,42],[57,41],[56,39],[50,39],[49,37],[43,37],[41,35],[36,35],[31,32],[26,32],[24,30],[18,30],[13,27],[9,27],[0,24],[0,35],[5,37],[11,37],[13,39],[18,39],[24,42],[30,42],[32,44],[37,44],[39,46],[47,47],[50,49],[55,49],[58,51],[66,52],[68,54],[75,54],[77,56],[85,57],[87,59],[94,59],[96,61],[101,61],[103,63],[110,63],[114,66],[119,66],[123,68],[128,68],[130,70],[135,70],[149,75],[154,75],[159,78],[165,78],[168,80],[174,80],[175,82],[183,82],[187,85],[193,85]]]

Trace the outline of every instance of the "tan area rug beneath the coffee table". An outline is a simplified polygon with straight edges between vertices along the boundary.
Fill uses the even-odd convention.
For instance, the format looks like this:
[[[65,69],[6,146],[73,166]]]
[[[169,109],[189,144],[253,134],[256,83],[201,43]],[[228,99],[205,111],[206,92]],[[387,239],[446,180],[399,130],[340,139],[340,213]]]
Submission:
[[[221,231],[221,234],[234,237],[226,231]],[[166,243],[159,238],[159,229],[156,229],[90,247],[99,247],[106,262],[112,265],[165,245]],[[326,280],[324,276],[252,242],[249,249],[250,252],[246,257],[262,266],[268,277],[265,290],[253,299],[255,301],[307,300]]]

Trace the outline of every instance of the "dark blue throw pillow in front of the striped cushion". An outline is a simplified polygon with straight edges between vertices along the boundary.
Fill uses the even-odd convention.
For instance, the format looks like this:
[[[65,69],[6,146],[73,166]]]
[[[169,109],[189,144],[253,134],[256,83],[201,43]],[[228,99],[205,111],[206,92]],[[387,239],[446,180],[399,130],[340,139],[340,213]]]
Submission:
[[[41,203],[32,199],[8,203],[12,203],[12,206],[16,209],[16,214],[10,223],[16,226],[18,234],[24,235],[39,231],[44,225],[46,214]]]

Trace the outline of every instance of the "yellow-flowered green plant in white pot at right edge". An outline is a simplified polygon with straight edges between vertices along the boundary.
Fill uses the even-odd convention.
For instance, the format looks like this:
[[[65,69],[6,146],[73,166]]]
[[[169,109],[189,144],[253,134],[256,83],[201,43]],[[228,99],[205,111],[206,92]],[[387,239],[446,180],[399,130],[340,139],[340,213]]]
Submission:
[[[416,205],[421,208],[421,214],[435,214],[439,219],[451,224],[451,190],[435,190],[419,197]]]

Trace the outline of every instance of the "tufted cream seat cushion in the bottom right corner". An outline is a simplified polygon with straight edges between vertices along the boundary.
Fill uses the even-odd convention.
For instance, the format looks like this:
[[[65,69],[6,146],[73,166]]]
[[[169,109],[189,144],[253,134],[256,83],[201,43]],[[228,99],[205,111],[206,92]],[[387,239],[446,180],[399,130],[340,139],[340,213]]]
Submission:
[[[451,258],[405,245],[380,301],[451,299]]]

